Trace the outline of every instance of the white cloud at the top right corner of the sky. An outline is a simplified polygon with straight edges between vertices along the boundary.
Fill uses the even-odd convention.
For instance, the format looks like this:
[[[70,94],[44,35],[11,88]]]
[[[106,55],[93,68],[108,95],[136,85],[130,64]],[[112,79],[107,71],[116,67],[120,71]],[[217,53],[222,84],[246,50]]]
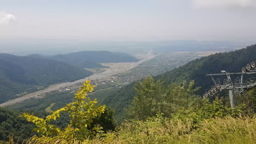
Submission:
[[[256,7],[255,0],[193,0],[195,8],[249,8]]]

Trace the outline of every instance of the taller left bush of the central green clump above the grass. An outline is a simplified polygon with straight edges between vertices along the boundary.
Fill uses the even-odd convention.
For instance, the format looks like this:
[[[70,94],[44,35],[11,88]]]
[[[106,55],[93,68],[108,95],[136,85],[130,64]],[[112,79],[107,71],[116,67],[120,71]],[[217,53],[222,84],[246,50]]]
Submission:
[[[162,98],[165,95],[165,87],[162,81],[154,82],[153,77],[146,77],[135,86],[137,92],[132,100],[129,115],[132,118],[146,119],[161,112],[163,107]]]

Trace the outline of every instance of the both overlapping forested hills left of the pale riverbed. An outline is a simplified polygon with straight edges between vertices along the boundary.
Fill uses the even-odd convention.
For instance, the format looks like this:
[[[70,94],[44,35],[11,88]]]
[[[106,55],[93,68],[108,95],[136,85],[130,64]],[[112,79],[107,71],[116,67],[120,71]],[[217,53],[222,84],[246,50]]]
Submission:
[[[0,103],[55,83],[84,79],[92,73],[83,68],[98,63],[136,62],[125,53],[83,51],[56,56],[15,56],[0,53]]]

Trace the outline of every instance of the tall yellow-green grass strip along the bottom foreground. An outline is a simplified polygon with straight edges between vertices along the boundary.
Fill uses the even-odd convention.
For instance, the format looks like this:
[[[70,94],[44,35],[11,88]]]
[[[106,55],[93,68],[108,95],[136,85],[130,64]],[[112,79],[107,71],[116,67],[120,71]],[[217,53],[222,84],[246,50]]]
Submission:
[[[195,125],[189,119],[181,121],[153,117],[146,122],[125,122],[116,133],[97,134],[94,138],[88,137],[83,142],[32,137],[27,143],[256,143],[256,119],[211,118]]]

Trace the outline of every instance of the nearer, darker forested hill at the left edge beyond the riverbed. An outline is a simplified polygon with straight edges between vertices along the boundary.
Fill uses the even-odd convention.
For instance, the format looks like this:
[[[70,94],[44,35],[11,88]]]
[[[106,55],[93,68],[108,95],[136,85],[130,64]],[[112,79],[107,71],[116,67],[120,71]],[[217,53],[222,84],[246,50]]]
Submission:
[[[35,56],[0,54],[0,103],[40,86],[83,79],[92,73],[63,62]]]

